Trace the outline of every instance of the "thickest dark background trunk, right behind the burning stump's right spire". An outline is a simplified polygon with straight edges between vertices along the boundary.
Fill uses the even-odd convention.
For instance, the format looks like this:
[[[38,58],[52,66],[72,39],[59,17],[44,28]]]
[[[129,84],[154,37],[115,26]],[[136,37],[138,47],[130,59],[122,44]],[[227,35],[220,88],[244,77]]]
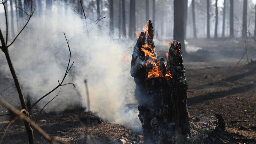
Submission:
[[[184,43],[184,1],[174,0],[173,39],[181,43],[182,53],[187,54]]]

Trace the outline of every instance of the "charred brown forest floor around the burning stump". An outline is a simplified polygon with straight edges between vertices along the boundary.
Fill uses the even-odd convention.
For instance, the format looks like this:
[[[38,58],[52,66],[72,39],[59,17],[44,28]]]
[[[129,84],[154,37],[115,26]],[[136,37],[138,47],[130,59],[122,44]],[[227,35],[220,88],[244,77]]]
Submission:
[[[217,137],[203,134],[211,143],[255,144],[256,143],[256,64],[247,64],[246,58],[236,67],[243,54],[239,39],[188,39],[189,47],[199,50],[184,56],[188,83],[188,111],[192,125],[199,128],[213,128],[217,124],[215,114],[221,115],[226,131],[218,131]],[[188,48],[189,48],[188,47]],[[248,47],[254,54],[254,47]],[[161,48],[159,55],[165,55]],[[1,75],[1,74],[0,74]],[[1,97],[15,93],[10,77],[1,75]],[[8,88],[8,89],[6,89]],[[0,107],[0,114],[6,109]],[[38,125],[51,136],[59,136],[71,143],[83,143],[84,129],[75,118],[87,124],[87,114],[77,106],[63,112],[43,112]],[[6,120],[8,117],[1,117]],[[133,133],[129,128],[108,122],[100,122],[91,116],[89,135],[99,143],[143,143],[143,135]],[[3,125],[1,125],[3,127]],[[1,132],[2,136],[3,132]],[[215,135],[215,136],[216,136]],[[87,139],[88,142],[91,140]],[[8,129],[3,143],[27,143],[27,134],[22,121],[16,121]],[[48,143],[35,132],[35,143]]]

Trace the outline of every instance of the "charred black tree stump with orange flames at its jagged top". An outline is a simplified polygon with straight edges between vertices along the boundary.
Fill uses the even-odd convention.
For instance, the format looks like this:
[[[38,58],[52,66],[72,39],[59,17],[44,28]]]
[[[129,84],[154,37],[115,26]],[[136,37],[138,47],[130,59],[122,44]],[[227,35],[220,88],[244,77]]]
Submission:
[[[131,76],[136,82],[139,119],[147,144],[191,143],[187,110],[187,82],[181,44],[170,44],[167,65],[155,53],[154,29],[149,20],[134,47]]]

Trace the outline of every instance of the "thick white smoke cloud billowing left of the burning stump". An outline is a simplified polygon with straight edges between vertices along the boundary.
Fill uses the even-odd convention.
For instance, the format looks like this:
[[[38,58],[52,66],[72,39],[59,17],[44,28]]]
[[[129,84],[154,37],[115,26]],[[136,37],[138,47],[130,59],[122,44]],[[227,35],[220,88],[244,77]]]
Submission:
[[[108,122],[128,125],[134,131],[140,132],[141,123],[137,116],[137,101],[134,97],[135,83],[130,76],[130,63],[124,60],[124,56],[131,57],[135,41],[109,38],[107,18],[99,22],[101,29],[94,27],[88,38],[84,31],[85,21],[81,20],[78,14],[71,8],[65,13],[57,9],[59,7],[53,6],[51,15],[44,15],[45,12],[40,16],[35,14],[13,46],[9,47],[25,96],[30,94],[33,103],[56,87],[58,80],[62,80],[69,59],[63,34],[65,32],[72,53],[71,63],[75,63],[64,83],[71,82],[76,87],[61,87],[59,96],[47,105],[46,110],[63,111],[79,104],[86,107],[83,82],[86,79],[92,112]],[[4,19],[2,14],[1,19]],[[4,21],[1,21],[0,25],[4,31]],[[17,25],[16,20],[14,25]],[[90,28],[93,21],[87,19],[87,25]],[[21,28],[17,27],[16,34]],[[13,37],[9,42],[12,39]],[[2,52],[0,61],[1,73],[10,75]],[[38,105],[44,106],[58,91],[54,91]]]

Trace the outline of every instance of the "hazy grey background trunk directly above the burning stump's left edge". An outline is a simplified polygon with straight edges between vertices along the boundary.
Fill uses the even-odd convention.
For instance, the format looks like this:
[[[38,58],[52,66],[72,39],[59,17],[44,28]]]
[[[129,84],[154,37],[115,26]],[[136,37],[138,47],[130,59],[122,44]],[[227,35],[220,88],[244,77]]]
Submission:
[[[130,0],[129,38],[134,38],[136,30],[135,0]]]

